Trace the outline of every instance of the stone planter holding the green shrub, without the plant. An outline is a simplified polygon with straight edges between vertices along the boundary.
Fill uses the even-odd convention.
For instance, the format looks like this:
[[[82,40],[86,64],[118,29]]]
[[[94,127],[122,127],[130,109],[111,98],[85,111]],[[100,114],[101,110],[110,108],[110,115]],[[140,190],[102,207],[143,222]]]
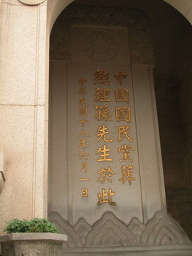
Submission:
[[[66,235],[14,233],[0,236],[2,256],[60,256]]]

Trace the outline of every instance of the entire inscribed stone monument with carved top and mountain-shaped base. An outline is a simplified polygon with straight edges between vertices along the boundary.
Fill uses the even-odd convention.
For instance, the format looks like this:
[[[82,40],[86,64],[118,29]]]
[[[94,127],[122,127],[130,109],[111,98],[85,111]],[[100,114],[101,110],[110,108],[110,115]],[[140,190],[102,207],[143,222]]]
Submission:
[[[63,255],[192,255],[166,214],[148,17],[70,6],[52,37],[49,217]]]

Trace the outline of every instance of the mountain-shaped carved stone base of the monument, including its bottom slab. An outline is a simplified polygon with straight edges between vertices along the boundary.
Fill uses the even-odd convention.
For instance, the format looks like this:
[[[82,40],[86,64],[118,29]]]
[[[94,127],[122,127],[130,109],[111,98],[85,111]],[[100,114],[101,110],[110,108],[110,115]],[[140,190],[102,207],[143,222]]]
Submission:
[[[72,226],[58,213],[51,213],[50,219],[68,235],[63,255],[192,255],[185,231],[161,210],[146,225],[138,218],[127,225],[111,212],[104,213],[93,225],[81,218]]]

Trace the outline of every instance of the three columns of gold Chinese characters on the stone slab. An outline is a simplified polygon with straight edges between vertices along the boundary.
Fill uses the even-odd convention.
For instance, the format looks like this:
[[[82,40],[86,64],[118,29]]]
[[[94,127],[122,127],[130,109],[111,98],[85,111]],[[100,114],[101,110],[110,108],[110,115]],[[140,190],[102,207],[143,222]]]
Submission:
[[[115,195],[118,195],[118,191],[116,191],[117,183],[122,183],[122,185],[128,183],[131,186],[132,182],[136,180],[134,175],[134,151],[136,149],[133,146],[134,137],[132,136],[132,114],[134,112],[132,113],[132,107],[130,106],[132,94],[130,95],[130,88],[127,85],[122,88],[122,85],[127,81],[127,75],[127,73],[120,70],[114,73],[116,82],[115,85],[111,85],[108,70],[98,69],[93,73],[93,86],[85,78],[78,80],[80,85],[78,90],[80,132],[77,134],[80,150],[78,153],[80,177],[78,179],[82,184],[81,196],[87,198],[92,194],[92,188],[86,186],[86,184],[90,181],[93,182],[92,177],[97,177],[95,181],[98,188],[101,189],[97,193],[98,206],[106,203],[115,206]],[[92,90],[92,102],[90,102],[91,98],[87,97],[87,91],[90,95],[90,90]],[[87,127],[93,124],[96,124],[95,144],[97,147],[95,149],[95,165],[89,166],[89,161],[92,159],[90,152],[92,152],[93,140]],[[92,131],[94,132],[94,128],[92,128]],[[114,162],[117,157],[119,164],[117,161]],[[110,166],[108,165],[109,162]],[[101,188],[102,184],[111,186],[111,188]],[[116,189],[113,189],[113,186]],[[126,185],[123,187],[127,188]],[[119,189],[121,189],[121,186]]]

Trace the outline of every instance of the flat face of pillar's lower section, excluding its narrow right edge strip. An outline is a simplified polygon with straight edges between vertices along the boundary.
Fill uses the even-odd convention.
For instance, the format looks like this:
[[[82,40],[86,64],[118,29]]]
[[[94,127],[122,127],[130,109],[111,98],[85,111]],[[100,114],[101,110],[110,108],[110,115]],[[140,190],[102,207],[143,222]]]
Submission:
[[[5,220],[32,217],[34,107],[4,106],[3,117],[7,182],[0,194],[1,230]]]

